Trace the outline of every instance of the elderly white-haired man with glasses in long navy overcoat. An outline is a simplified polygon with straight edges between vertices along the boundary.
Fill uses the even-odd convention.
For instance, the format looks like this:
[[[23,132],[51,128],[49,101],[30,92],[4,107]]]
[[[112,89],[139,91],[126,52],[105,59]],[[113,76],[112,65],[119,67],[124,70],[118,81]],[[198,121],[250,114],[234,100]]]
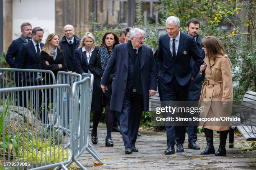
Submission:
[[[141,115],[148,110],[149,96],[156,94],[156,64],[151,48],[143,45],[144,31],[133,28],[129,33],[130,40],[113,49],[101,80],[105,92],[115,68],[110,109],[120,114],[125,154],[138,152],[135,143]]]

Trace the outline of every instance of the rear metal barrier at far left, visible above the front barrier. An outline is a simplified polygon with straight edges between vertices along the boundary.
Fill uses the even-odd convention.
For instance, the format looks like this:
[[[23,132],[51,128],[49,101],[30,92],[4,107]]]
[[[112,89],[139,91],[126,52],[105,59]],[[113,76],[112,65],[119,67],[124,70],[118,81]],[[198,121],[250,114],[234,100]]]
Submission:
[[[56,84],[50,70],[0,68],[0,75],[0,88]]]

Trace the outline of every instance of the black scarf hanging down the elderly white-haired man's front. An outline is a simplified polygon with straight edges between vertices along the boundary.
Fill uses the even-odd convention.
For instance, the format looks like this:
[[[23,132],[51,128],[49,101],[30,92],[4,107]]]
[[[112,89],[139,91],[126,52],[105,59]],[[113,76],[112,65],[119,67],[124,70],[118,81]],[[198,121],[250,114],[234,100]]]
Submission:
[[[142,52],[142,47],[138,49],[138,55],[133,49],[131,41],[127,42],[129,57],[133,60],[133,89],[136,89],[138,94],[143,94],[142,80],[141,80],[141,65],[140,57]]]

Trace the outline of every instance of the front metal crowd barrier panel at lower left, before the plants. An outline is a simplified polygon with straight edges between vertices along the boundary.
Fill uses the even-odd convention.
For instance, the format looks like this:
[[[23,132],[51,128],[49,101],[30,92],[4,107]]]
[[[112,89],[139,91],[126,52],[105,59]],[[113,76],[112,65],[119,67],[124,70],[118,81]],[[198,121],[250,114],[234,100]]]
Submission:
[[[51,91],[53,98],[59,100],[49,97]],[[20,94],[26,97],[18,100],[17,106]],[[73,153],[72,148],[64,145],[71,139],[63,131],[56,132],[66,122],[60,119],[59,125],[48,123],[54,113],[58,117],[72,113],[71,87],[66,84],[2,88],[0,102],[0,153],[4,169],[67,169],[64,165],[72,162]]]

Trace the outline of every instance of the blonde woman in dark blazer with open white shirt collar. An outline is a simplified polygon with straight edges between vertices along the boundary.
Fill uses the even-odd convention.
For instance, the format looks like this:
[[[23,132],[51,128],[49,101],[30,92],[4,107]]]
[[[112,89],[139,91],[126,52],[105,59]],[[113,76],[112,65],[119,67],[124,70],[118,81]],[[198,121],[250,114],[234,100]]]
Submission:
[[[79,47],[74,51],[74,62],[76,73],[82,75],[83,72],[89,73],[88,63],[95,47],[95,37],[90,32],[86,32],[81,40]]]

